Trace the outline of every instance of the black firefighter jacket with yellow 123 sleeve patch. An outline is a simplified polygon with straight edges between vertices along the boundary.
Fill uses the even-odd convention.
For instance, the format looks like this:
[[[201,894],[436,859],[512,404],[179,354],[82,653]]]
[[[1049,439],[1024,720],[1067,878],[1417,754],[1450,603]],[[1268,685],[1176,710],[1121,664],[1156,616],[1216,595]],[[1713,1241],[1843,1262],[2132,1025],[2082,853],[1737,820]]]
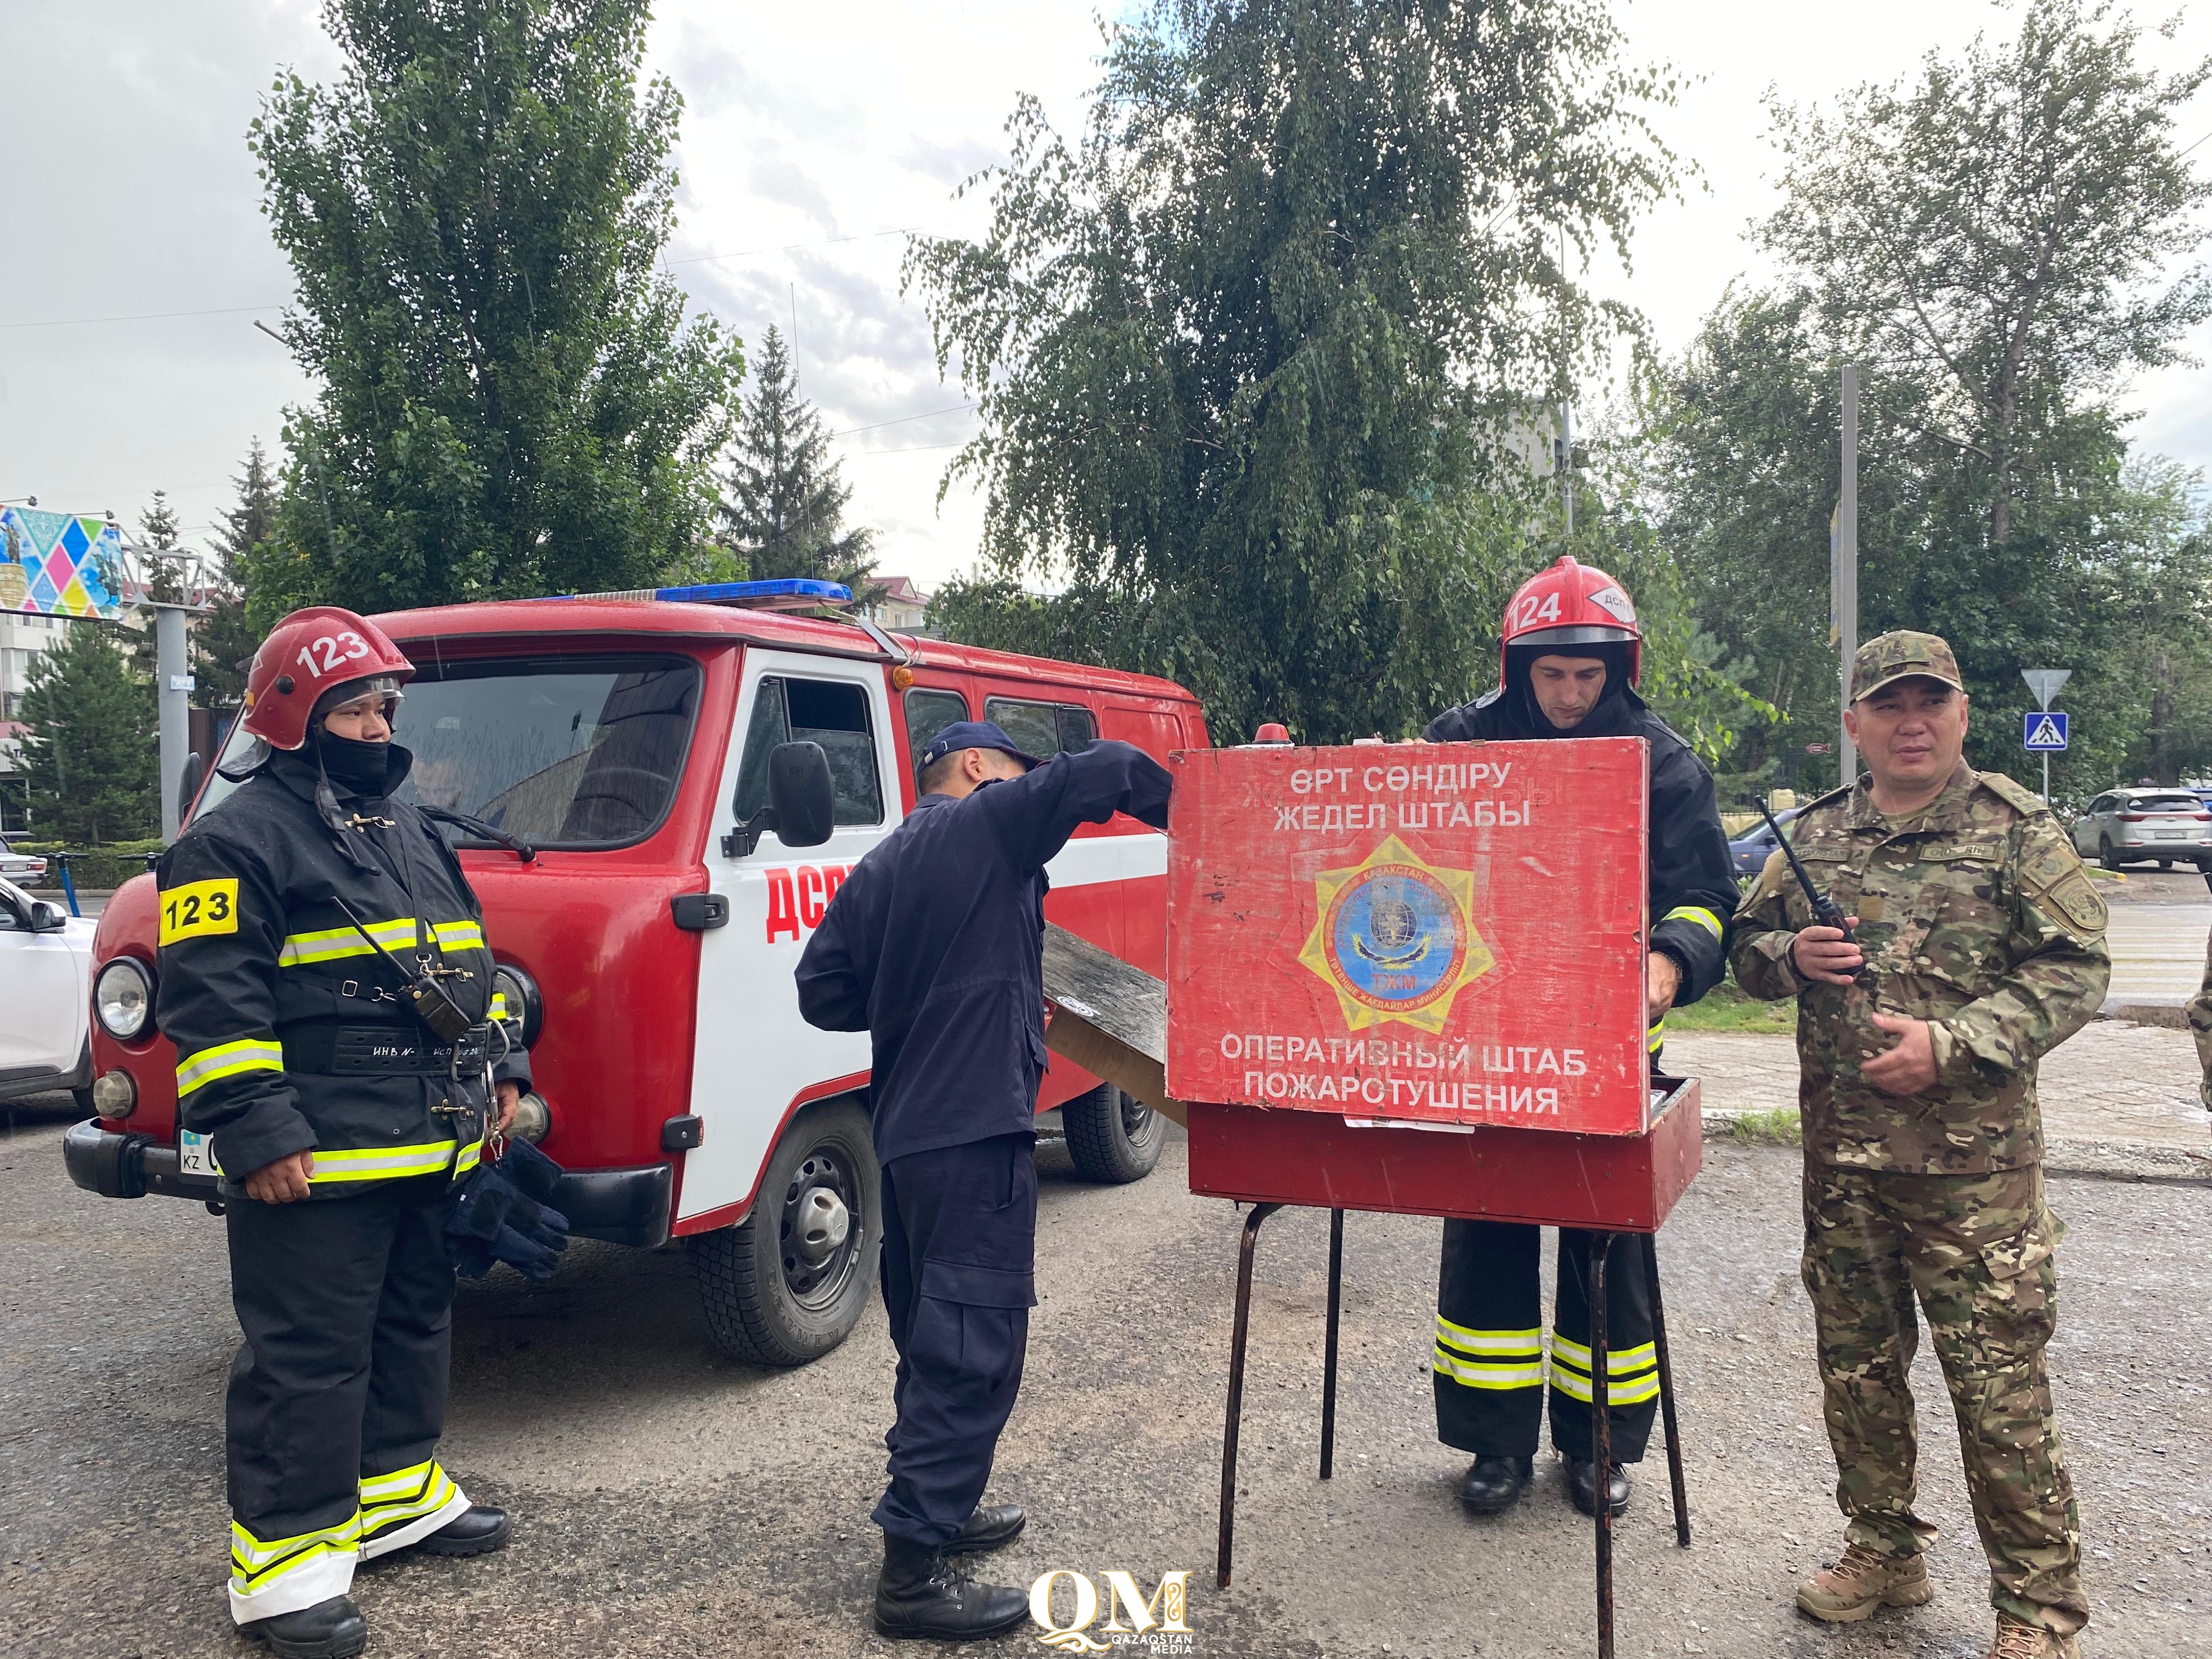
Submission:
[[[394,748],[387,792],[409,761]],[[177,1046],[179,1124],[212,1137],[226,1190],[299,1150],[314,1152],[316,1199],[438,1170],[458,1179],[489,1108],[476,1055],[489,1037],[498,1057],[502,1037],[465,1037],[456,1066],[332,900],[400,962],[460,969],[440,984],[478,1022],[493,995],[484,914],[416,807],[338,796],[361,867],[316,814],[314,783],[310,759],[279,752],[161,854],[155,1020]],[[526,1057],[509,1053],[495,1077],[529,1082]]]

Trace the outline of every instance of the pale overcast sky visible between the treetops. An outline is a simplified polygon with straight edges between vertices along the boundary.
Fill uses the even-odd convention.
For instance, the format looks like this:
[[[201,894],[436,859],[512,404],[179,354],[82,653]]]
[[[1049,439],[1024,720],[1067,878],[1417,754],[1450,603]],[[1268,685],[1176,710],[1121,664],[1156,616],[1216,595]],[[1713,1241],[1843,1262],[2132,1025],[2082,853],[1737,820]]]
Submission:
[[[2212,51],[2208,13],[2188,9],[2177,40],[2152,46],[2174,64]],[[2011,27],[1980,0],[1637,0],[1619,15],[1635,58],[1699,77],[1661,131],[1703,181],[1644,221],[1626,281],[1668,349],[1732,279],[1759,274],[1743,226],[1774,199],[1770,86],[1827,100]],[[953,184],[1002,153],[1018,93],[1073,133],[1097,51],[1093,0],[659,7],[650,66],[688,102],[670,268],[748,341],[770,323],[794,334],[805,394],[845,434],[854,518],[883,531],[885,575],[967,568],[978,524],[973,498],[936,502],[973,416],[938,383],[927,319],[898,292],[898,232],[973,230],[978,204],[956,204]],[[276,321],[290,276],[246,124],[279,64],[334,71],[319,7],[0,0],[0,500],[113,507],[135,524],[159,487],[201,542],[248,440],[274,449],[283,407],[312,392],[252,327]],[[2183,142],[2199,128],[2212,131],[2212,95]],[[2194,161],[2212,166],[2212,144]],[[2212,356],[2212,332],[2197,347]],[[2146,378],[2132,405],[2146,449],[2212,469],[2212,372]]]

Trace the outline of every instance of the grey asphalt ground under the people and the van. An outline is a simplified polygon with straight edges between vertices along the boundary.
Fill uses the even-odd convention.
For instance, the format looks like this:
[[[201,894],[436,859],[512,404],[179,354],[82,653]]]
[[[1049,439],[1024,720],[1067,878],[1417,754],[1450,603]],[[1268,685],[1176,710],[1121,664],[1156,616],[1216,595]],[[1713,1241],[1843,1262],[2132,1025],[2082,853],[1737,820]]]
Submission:
[[[38,1117],[35,1113],[29,1117]],[[0,1652],[243,1655],[223,1610],[221,1389],[234,1345],[219,1223],[62,1179],[66,1110],[0,1141]],[[1004,1582],[1190,1571],[1197,1655],[1586,1655],[1590,1533],[1557,1464],[1471,1522],[1431,1438],[1436,1223],[1347,1223],[1338,1473],[1316,1480],[1327,1228],[1267,1223],[1252,1312],[1237,1584],[1212,1588],[1239,1217],[1183,1188],[1181,1144],[1133,1188],[1046,1150],[1029,1378],[995,1498],[1029,1533]],[[1984,1575],[1922,1347],[1936,1604],[1823,1628],[1790,1608],[1840,1531],[1796,1283],[1796,1157],[1708,1146],[1661,1237],[1697,1544],[1646,1464],[1619,1544],[1619,1652],[1975,1659]],[[2212,1327],[2201,1186],[2059,1179],[2062,1413],[2084,1493],[2088,1652],[2205,1652]],[[891,1352],[880,1312],[799,1371],[721,1360],[681,1250],[580,1245],[533,1287],[465,1287],[445,1460],[515,1509],[478,1562],[361,1575],[372,1655],[878,1655],[867,1630]],[[1066,1597],[1064,1597],[1066,1599]],[[1035,1630],[995,1652],[1044,1652]]]

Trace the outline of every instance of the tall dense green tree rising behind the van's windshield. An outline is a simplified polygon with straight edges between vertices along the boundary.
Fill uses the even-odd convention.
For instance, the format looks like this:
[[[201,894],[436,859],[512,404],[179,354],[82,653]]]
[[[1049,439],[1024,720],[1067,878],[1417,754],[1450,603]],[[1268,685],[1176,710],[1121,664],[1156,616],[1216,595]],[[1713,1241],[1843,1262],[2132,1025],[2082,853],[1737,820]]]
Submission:
[[[681,100],[646,0],[330,0],[330,86],[252,124],[321,394],[285,420],[265,626],[655,584],[703,535],[743,358],[655,270]]]

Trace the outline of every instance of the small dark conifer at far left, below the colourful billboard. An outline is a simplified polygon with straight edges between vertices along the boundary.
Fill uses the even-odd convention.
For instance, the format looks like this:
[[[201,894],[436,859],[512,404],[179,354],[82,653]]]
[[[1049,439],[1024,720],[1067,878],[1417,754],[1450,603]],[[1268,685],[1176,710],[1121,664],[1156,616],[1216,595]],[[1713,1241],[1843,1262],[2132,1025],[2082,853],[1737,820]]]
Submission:
[[[97,622],[31,661],[22,697],[31,825],[69,843],[131,841],[161,827],[153,681]]]

